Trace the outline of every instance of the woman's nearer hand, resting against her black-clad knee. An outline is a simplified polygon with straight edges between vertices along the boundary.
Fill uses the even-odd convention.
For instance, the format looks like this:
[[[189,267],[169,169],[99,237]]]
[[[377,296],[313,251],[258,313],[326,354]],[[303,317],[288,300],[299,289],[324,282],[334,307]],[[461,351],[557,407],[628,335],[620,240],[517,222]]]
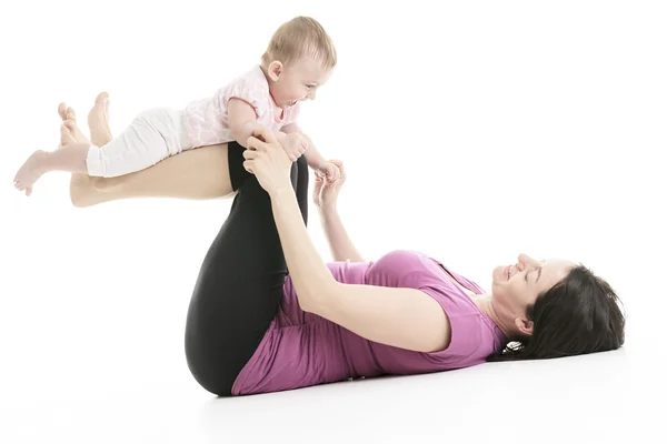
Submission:
[[[292,190],[289,172],[292,162],[276,137],[266,128],[258,128],[248,138],[248,149],[243,151],[243,168],[255,174],[261,188],[269,194]]]

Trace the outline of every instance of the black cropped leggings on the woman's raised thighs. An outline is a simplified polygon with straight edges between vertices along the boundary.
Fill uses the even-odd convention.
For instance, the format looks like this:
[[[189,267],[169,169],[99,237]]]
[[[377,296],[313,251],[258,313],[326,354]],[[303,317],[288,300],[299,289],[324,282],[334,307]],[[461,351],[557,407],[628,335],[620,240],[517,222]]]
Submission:
[[[229,175],[238,194],[201,265],[186,324],[186,356],[201,386],[231,395],[282,299],[287,265],[271,201],[243,169],[243,148],[229,143]],[[308,219],[308,165],[291,169],[303,222]]]

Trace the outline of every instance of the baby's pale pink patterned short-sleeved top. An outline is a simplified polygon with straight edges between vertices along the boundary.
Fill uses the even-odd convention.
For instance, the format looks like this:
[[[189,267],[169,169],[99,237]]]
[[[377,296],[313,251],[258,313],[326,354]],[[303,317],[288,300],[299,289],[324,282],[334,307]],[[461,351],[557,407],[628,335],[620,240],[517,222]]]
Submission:
[[[297,121],[299,103],[288,109],[276,104],[269,93],[269,82],[259,65],[237,77],[213,97],[189,103],[183,110],[183,123],[192,148],[233,141],[227,112],[229,100],[240,99],[255,109],[257,123],[270,131]]]

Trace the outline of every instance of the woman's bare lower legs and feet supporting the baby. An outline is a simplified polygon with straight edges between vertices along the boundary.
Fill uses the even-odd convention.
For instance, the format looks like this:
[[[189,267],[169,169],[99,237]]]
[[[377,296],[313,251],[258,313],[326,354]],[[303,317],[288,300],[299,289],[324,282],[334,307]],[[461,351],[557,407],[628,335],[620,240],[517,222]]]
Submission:
[[[108,95],[98,95],[88,115],[92,143],[101,147],[111,138],[108,121]],[[79,130],[71,108],[58,110],[70,135],[87,140]],[[198,148],[165,159],[143,171],[119,178],[90,178],[72,174],[70,198],[74,206],[91,206],[102,202],[130,198],[177,198],[205,200],[232,193],[227,162],[227,144]]]

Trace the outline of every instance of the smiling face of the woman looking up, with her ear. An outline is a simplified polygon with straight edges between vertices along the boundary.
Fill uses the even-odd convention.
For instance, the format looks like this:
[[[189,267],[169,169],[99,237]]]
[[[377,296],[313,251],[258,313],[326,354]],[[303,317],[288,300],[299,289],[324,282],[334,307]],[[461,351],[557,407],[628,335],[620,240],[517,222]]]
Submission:
[[[538,294],[565,279],[574,266],[576,264],[570,261],[537,261],[526,254],[519,254],[515,264],[497,266],[491,284],[496,314],[512,323],[519,332],[531,334],[532,321],[526,316],[526,309],[535,304]]]

